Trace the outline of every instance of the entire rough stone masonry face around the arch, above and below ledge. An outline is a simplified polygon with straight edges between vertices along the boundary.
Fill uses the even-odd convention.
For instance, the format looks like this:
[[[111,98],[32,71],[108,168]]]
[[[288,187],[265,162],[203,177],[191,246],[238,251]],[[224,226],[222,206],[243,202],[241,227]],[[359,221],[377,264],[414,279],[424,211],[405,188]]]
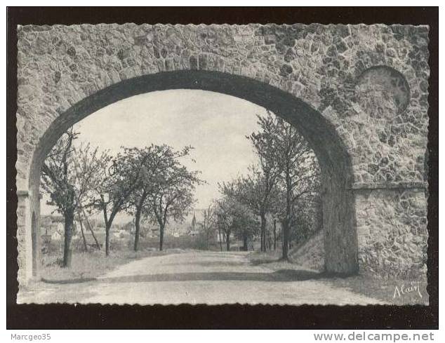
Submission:
[[[70,109],[113,85],[175,71],[242,76],[307,104],[326,124],[314,121],[312,130],[300,128],[303,135],[315,142],[317,132],[332,130],[347,154],[351,175],[338,187],[353,216],[347,224],[328,220],[336,230],[352,225],[359,272],[425,274],[427,45],[427,27],[404,25],[18,27],[20,283],[32,276],[30,218],[33,211],[38,218],[39,163],[59,135],[55,125],[66,129]],[[322,168],[336,169],[334,159],[318,155]],[[325,205],[341,213],[336,201]]]

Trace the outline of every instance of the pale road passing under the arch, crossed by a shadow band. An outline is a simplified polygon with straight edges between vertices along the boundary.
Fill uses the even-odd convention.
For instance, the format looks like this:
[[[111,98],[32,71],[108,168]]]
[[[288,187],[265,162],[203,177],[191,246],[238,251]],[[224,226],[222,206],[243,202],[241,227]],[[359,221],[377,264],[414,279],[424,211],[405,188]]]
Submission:
[[[254,266],[246,253],[187,252],[125,264],[97,281],[49,287],[41,299],[110,304],[378,304],[313,271]],[[65,294],[65,296],[64,296]]]

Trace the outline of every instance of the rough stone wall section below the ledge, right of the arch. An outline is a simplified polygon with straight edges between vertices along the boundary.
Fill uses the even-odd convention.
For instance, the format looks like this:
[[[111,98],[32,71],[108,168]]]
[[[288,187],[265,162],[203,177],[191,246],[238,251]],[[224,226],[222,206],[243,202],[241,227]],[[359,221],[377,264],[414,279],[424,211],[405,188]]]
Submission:
[[[357,230],[364,272],[411,280],[426,276],[425,201],[421,189],[359,191]]]

